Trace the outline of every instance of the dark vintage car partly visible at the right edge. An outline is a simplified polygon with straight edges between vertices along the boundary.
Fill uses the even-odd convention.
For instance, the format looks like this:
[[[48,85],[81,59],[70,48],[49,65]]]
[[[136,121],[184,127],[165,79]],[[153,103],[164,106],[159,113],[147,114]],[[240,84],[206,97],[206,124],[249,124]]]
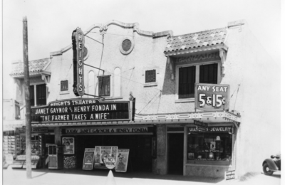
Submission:
[[[272,175],[274,171],[281,171],[281,154],[271,155],[262,163],[264,175]]]

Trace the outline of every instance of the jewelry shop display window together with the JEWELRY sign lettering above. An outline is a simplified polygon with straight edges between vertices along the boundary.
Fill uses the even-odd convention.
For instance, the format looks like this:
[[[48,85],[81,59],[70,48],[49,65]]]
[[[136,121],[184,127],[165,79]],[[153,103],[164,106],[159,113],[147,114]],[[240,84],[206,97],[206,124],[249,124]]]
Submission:
[[[187,163],[229,165],[232,162],[233,127],[188,127]]]

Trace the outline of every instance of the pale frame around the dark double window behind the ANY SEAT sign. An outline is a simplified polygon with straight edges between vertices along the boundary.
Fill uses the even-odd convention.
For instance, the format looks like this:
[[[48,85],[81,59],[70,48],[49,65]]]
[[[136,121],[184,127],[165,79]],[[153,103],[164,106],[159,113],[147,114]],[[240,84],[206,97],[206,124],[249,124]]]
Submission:
[[[185,68],[185,67],[190,67],[190,66],[195,66],[196,67],[196,75],[195,75],[195,83],[199,83],[199,66],[200,65],[209,65],[217,63],[217,84],[221,83],[221,65],[222,62],[221,60],[211,60],[211,61],[199,61],[196,63],[187,63],[187,64],[176,64],[175,66],[175,73],[176,73],[176,87],[175,87],[175,102],[195,102],[195,97],[187,97],[187,98],[179,98],[179,68]]]

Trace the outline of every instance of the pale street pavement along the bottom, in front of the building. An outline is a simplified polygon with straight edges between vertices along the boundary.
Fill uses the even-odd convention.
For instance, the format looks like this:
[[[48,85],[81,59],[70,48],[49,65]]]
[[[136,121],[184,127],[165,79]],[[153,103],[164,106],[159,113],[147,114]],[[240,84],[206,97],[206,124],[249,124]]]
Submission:
[[[25,169],[3,169],[4,185],[83,185],[83,184],[102,184],[102,185],[189,185],[189,184],[260,184],[260,185],[279,185],[281,184],[281,174],[276,173],[273,176],[257,174],[256,176],[239,181],[237,179],[225,181],[217,178],[202,178],[195,176],[180,175],[155,175],[150,173],[117,173],[113,175],[108,170],[83,171],[81,169],[35,169],[32,171],[32,179],[26,179]]]

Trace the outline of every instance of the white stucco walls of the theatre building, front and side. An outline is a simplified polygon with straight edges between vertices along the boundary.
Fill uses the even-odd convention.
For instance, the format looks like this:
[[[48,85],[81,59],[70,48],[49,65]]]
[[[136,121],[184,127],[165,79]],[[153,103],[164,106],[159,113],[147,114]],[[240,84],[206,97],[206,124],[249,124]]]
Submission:
[[[236,176],[240,177],[250,171],[260,171],[263,159],[269,157],[272,151],[278,152],[280,149],[280,103],[277,100],[280,97],[279,69],[249,30],[246,21],[228,23],[222,30],[224,37],[221,40],[224,42],[217,46],[194,47],[187,50],[181,47],[182,51],[165,49],[172,38],[178,37],[173,36],[172,31],[142,31],[138,23],[110,21],[104,25],[95,24],[85,31],[85,47],[88,50],[85,56],[87,65],[84,65],[85,92],[98,96],[100,75],[110,75],[110,96],[105,97],[105,101],[128,101],[132,92],[135,97],[135,120],[130,124],[155,125],[157,129],[157,157],[152,159],[152,172],[155,174],[167,174],[169,171],[167,137],[170,132],[167,131],[167,127],[183,128],[179,131],[184,134],[183,175],[224,176],[224,171],[234,169]],[[201,31],[201,35],[202,33]],[[128,54],[120,51],[122,41],[126,38],[133,41],[133,49]],[[179,39],[181,41],[181,38]],[[197,58],[197,55],[202,57],[193,61],[180,60],[191,56]],[[71,45],[61,51],[51,52],[49,60],[43,70],[31,78],[34,79],[34,84],[46,84],[46,103],[78,98],[72,88]],[[231,126],[236,129],[232,135],[230,165],[199,165],[188,163],[187,160],[187,128],[193,126],[195,120],[190,115],[203,112],[195,109],[194,98],[178,98],[178,70],[184,66],[208,64],[213,61],[217,63],[217,84],[230,85],[231,97],[227,111],[238,121],[222,117],[222,121],[219,122],[217,117],[214,117],[216,113],[212,113],[214,116],[211,118],[199,120],[209,120],[209,124],[214,126]],[[154,69],[155,82],[145,83],[145,70]],[[61,90],[63,80],[68,80],[66,91]],[[16,80],[16,83],[19,83],[18,88],[22,87],[22,78]],[[21,90],[17,90],[16,100],[24,104]],[[191,114],[187,119],[182,119],[182,113]],[[164,118],[157,118],[159,116]],[[41,127],[41,124],[33,126]],[[45,126],[54,128],[56,142],[60,144],[60,128],[63,125],[58,123]]]

